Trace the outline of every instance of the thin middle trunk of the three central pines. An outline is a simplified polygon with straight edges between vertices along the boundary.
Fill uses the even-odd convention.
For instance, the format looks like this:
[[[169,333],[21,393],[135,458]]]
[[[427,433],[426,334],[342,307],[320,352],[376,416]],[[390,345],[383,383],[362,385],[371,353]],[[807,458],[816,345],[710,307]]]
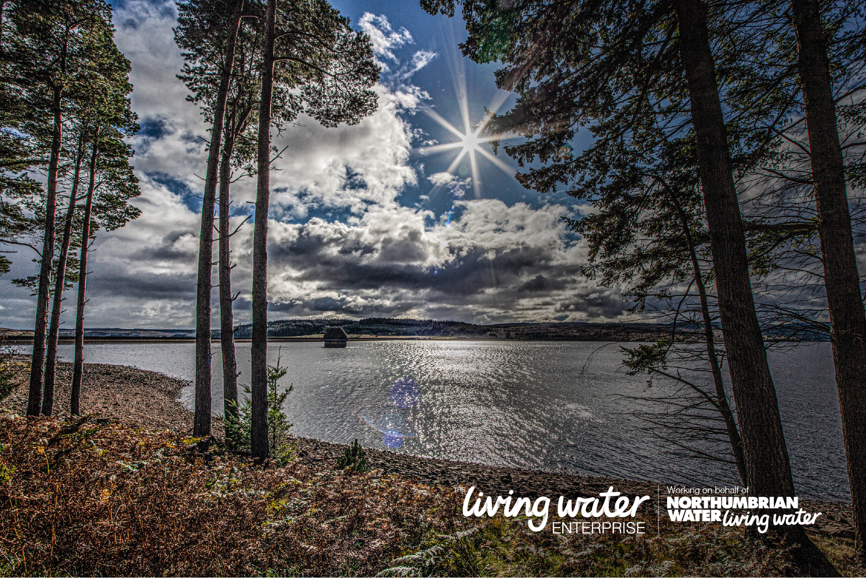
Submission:
[[[229,224],[229,187],[231,185],[231,153],[235,135],[226,131],[223,161],[219,176],[219,320],[220,346],[223,351],[223,412],[225,417],[237,417],[237,360],[235,357],[235,318],[231,295],[231,240]],[[234,443],[229,440],[229,443]]]

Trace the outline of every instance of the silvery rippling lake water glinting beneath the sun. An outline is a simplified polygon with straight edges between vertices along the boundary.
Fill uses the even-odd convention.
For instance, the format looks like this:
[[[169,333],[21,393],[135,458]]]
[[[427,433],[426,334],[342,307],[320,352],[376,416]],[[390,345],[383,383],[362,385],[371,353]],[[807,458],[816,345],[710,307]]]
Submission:
[[[286,404],[293,432],[312,438],[420,456],[548,471],[643,478],[713,479],[714,464],[683,464],[628,415],[645,379],[626,375],[617,345],[585,341],[368,341],[268,346],[294,384]],[[599,347],[601,347],[599,349]],[[71,345],[59,347],[73,359]],[[192,343],[94,344],[87,361],[159,371],[182,380],[195,372]],[[214,412],[222,412],[222,364],[213,347]],[[588,362],[588,359],[591,360]],[[771,352],[785,438],[800,496],[849,499],[847,471],[827,343]],[[249,344],[237,346],[249,383]],[[656,386],[657,387],[657,386]],[[660,391],[659,393],[663,393]],[[181,399],[191,407],[192,388]]]

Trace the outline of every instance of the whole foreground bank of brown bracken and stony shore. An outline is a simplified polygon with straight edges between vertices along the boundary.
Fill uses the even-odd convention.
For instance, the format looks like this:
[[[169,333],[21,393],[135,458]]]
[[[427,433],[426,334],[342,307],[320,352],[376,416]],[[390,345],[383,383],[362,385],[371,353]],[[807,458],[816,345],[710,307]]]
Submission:
[[[533,532],[525,516],[461,513],[470,485],[573,497],[609,485],[652,496],[655,484],[372,449],[371,471],[358,474],[335,467],[345,445],[309,438],[295,438],[287,465],[259,466],[191,438],[191,412],[176,401],[183,381],[87,364],[85,415],[71,418],[70,380],[71,364],[59,364],[56,417],[21,417],[23,379],[0,401],[0,575],[798,574],[790,549],[746,541],[742,529],[657,522],[655,500],[638,514],[643,536],[554,534],[551,523]],[[810,536],[840,573],[866,574],[850,506],[804,506],[825,512]],[[555,510],[554,498],[551,520]]]

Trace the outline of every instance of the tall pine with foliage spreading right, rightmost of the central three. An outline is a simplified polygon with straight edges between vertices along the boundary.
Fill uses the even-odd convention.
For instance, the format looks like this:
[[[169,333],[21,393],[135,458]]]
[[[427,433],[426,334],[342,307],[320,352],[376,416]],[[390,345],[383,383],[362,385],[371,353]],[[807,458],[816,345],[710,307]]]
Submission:
[[[326,127],[358,123],[376,109],[378,80],[369,39],[324,0],[268,0],[263,18],[262,94],[259,101],[253,233],[252,432],[253,455],[268,457],[268,205],[272,101],[283,88],[299,114]],[[289,88],[294,88],[288,93]]]

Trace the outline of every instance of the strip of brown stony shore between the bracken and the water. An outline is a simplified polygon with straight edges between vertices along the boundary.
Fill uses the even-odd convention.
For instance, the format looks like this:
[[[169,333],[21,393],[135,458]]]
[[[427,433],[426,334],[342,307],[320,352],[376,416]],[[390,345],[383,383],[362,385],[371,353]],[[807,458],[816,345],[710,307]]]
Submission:
[[[29,360],[29,355],[16,355],[15,360]],[[68,399],[73,363],[57,363],[57,387],[55,389],[55,416],[68,415]],[[192,431],[191,411],[179,401],[180,391],[189,384],[184,380],[168,377],[162,373],[135,367],[86,363],[84,383],[81,387],[81,411],[99,413],[101,419],[118,419],[141,428],[172,430],[189,434]],[[12,393],[0,401],[0,409],[23,414],[27,406],[26,376],[22,376]],[[223,431],[222,419],[213,420],[216,437]],[[315,438],[293,436],[299,458],[315,467],[331,468],[336,458],[348,445]],[[609,486],[614,486],[624,495],[649,495],[661,497],[660,510],[664,510],[664,497],[658,492],[664,485],[628,480],[617,477],[590,477],[540,470],[526,470],[507,466],[491,466],[456,462],[438,458],[423,458],[396,451],[365,447],[367,462],[374,476],[397,474],[415,479],[422,484],[450,487],[475,486],[487,495],[507,495],[514,490],[518,497],[598,496]],[[682,485],[682,484],[675,484]],[[651,510],[656,510],[656,500],[650,499]],[[800,500],[812,510],[824,512],[811,530],[839,537],[853,537],[850,523],[849,503],[831,503],[816,500]],[[823,518],[823,519],[822,519]]]

